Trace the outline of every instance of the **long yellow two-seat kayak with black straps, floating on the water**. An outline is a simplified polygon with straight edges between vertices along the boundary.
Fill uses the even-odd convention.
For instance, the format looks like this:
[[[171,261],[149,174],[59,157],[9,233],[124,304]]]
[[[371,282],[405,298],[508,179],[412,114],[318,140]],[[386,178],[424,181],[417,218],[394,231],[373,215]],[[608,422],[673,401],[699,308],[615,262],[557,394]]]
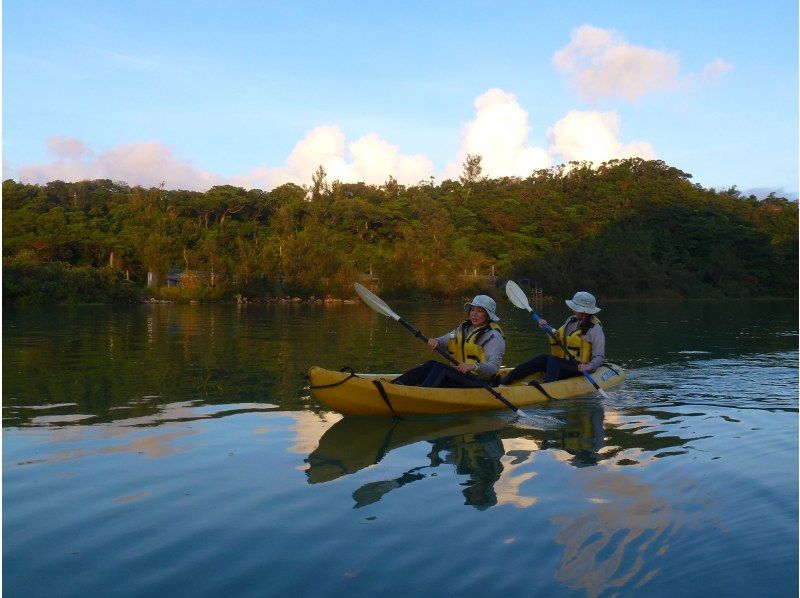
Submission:
[[[510,370],[504,368],[501,374]],[[505,409],[502,402],[483,388],[424,388],[392,384],[397,376],[399,374],[357,374],[317,366],[308,370],[309,386],[314,396],[344,415],[436,415]],[[584,376],[530,385],[529,382],[536,381],[537,376],[541,380],[541,374],[538,374],[510,386],[498,386],[495,390],[517,408],[543,403],[551,398],[570,399],[595,392]],[[609,363],[597,368],[592,377],[602,388],[611,388],[624,382],[627,374],[621,367]]]

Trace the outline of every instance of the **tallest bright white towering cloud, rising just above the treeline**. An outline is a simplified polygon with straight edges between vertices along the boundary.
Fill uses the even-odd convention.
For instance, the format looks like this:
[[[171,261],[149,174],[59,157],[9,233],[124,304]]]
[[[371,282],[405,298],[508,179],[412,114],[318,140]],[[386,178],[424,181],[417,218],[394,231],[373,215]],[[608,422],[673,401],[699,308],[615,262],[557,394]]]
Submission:
[[[475,118],[464,126],[459,163],[447,166],[445,176],[456,178],[468,154],[481,156],[483,175],[526,177],[551,164],[547,152],[527,145],[528,113],[514,94],[490,89],[475,99]]]

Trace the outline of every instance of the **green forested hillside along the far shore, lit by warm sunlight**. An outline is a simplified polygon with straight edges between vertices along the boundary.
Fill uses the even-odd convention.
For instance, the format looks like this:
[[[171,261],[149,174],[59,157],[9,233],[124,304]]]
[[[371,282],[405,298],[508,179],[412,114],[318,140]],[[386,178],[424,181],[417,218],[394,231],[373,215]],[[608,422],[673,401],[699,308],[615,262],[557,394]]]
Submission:
[[[200,300],[352,297],[367,276],[387,297],[455,297],[490,275],[557,296],[796,296],[797,202],[690,179],[640,159],[483,179],[471,157],[459,181],[411,187],[321,168],[268,192],[7,180],[3,301],[131,301],[148,272],[149,293]]]

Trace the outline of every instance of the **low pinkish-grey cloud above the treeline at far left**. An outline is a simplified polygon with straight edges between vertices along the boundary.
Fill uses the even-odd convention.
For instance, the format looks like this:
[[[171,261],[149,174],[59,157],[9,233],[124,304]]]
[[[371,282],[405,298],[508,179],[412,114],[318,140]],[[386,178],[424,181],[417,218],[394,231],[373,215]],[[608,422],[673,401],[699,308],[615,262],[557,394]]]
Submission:
[[[47,148],[54,159],[19,169],[19,179],[29,183],[111,179],[131,185],[170,189],[206,190],[221,177],[194,166],[157,141],[119,145],[95,154],[79,139],[51,137]]]

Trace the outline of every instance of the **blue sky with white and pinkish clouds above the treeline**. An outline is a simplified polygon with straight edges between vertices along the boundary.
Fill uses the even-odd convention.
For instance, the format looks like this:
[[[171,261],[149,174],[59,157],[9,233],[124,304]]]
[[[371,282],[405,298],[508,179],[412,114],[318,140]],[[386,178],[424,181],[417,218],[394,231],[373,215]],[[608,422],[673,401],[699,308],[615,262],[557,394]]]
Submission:
[[[3,179],[205,191],[663,160],[798,192],[797,0],[5,0]]]

